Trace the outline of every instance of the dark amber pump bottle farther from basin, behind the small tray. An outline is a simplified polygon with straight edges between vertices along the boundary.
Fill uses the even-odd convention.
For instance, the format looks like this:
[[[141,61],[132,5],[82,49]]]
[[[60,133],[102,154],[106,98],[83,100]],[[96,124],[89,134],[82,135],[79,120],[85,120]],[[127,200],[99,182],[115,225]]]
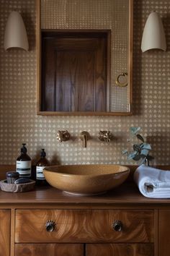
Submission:
[[[19,172],[19,177],[31,176],[31,158],[27,155],[27,148],[25,143],[22,144],[21,155],[17,158],[16,171]]]

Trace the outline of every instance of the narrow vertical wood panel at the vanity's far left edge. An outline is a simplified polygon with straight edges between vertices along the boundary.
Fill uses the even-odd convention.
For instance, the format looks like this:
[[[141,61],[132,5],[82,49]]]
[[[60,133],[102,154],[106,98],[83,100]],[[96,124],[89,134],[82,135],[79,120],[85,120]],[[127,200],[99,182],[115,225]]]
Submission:
[[[9,256],[10,210],[0,210],[0,256]]]

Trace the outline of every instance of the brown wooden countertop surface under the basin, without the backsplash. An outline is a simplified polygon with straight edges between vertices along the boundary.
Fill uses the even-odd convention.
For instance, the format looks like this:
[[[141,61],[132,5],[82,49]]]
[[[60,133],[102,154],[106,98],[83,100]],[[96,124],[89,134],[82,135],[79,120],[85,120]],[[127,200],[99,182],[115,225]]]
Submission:
[[[170,205],[170,199],[152,199],[143,197],[133,182],[127,182],[103,195],[75,196],[68,195],[53,187],[35,188],[30,192],[3,192],[0,191],[0,205],[2,204],[69,204],[69,205]]]

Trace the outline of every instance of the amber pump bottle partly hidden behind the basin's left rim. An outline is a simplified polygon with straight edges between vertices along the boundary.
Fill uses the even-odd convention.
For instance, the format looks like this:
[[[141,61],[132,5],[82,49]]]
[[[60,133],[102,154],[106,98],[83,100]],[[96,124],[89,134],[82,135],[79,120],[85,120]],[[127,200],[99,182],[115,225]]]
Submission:
[[[45,150],[44,150],[44,148],[42,148],[40,160],[36,164],[36,184],[37,184],[37,186],[48,185],[48,182],[46,181],[45,176],[42,172],[46,166],[50,166],[50,163],[47,160],[47,158],[45,158],[45,156],[46,156]]]

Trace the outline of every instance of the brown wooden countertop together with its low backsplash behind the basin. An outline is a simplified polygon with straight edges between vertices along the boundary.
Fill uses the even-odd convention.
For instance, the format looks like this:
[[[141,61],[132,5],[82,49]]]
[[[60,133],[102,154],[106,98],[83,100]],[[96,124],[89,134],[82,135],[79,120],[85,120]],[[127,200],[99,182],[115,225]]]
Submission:
[[[12,193],[3,192],[0,190],[0,208],[8,208],[10,205],[17,205],[18,207],[29,207],[29,204],[37,204],[40,208],[51,205],[59,206],[70,205],[73,207],[79,205],[79,207],[97,208],[97,205],[102,205],[104,208],[116,207],[133,207],[133,205],[138,205],[138,207],[152,208],[153,206],[158,206],[164,208],[164,206],[170,206],[170,199],[153,199],[147,198],[140,194],[138,187],[133,182],[133,172],[136,166],[129,166],[131,173],[128,182],[125,182],[120,187],[113,189],[105,193],[104,195],[96,196],[75,196],[68,195],[58,189],[53,187],[37,187],[35,190],[30,192],[22,193]],[[158,168],[164,170],[170,170],[170,166],[158,166]],[[0,165],[0,179],[4,179],[6,171],[11,171],[14,169],[12,165]],[[22,206],[21,206],[22,205]]]

